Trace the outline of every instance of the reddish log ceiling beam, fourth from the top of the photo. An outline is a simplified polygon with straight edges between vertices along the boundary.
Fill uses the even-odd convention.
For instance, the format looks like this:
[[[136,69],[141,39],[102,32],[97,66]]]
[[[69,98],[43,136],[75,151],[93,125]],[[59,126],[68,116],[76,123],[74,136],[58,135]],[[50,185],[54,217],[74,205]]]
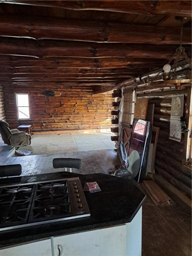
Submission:
[[[66,67],[66,68],[156,68],[167,61],[140,58],[49,58],[38,60],[30,57],[0,56],[0,67]]]

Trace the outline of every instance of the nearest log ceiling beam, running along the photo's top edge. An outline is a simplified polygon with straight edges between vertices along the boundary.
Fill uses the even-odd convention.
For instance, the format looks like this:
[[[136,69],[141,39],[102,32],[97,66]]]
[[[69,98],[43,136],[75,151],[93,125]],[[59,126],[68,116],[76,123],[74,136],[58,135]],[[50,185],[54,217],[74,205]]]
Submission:
[[[191,16],[191,1],[59,1],[2,0],[4,3],[59,7],[70,10],[100,10],[143,15]]]

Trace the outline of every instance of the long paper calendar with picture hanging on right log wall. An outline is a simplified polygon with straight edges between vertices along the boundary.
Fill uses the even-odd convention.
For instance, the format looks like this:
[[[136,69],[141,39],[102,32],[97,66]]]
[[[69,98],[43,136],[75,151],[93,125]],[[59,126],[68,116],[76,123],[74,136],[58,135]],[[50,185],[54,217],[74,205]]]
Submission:
[[[183,116],[184,95],[176,95],[171,101],[170,131],[169,139],[181,141],[181,123],[180,118]]]

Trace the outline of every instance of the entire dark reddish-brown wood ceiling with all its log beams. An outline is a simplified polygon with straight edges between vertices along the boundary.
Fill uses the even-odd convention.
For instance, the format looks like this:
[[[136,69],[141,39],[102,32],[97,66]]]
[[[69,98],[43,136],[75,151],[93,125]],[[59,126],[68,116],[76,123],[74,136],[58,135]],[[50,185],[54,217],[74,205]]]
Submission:
[[[167,63],[176,15],[191,54],[191,1],[0,0],[0,84],[113,89]]]

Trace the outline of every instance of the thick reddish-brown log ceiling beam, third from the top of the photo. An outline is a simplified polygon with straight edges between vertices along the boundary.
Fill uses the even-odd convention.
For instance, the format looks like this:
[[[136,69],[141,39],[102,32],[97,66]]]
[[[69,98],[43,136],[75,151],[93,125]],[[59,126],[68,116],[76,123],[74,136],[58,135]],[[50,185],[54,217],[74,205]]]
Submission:
[[[0,38],[1,55],[47,57],[81,57],[81,58],[151,58],[170,59],[178,46],[68,42],[60,40],[31,40],[20,38]],[[186,46],[186,51],[191,50]],[[190,52],[189,52],[190,55]]]

